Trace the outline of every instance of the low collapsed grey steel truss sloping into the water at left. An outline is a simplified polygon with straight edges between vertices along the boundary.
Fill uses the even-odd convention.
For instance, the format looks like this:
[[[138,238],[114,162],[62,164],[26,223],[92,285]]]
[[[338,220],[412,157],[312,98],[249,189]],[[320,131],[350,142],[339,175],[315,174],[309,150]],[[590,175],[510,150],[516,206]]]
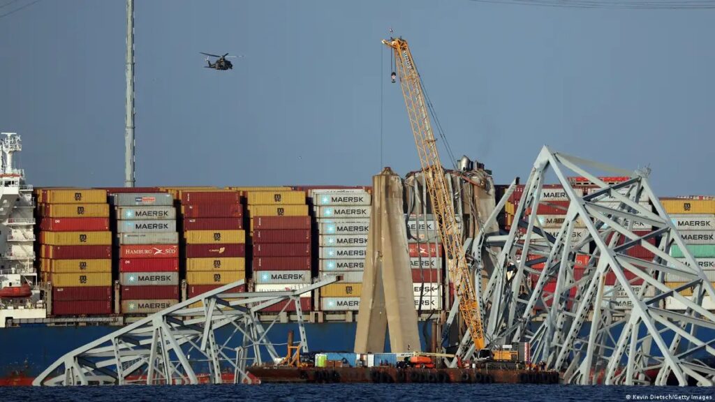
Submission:
[[[222,286],[72,350],[43,371],[33,385],[250,383],[247,367],[261,364],[262,352],[272,360],[282,357],[276,353],[277,344],[267,337],[278,315],[266,328],[257,312],[285,300],[295,303],[300,343],[307,353],[300,295],[336,280],[339,277],[322,278],[280,292],[227,293],[243,285],[243,280]],[[197,302],[201,305],[192,307]],[[221,328],[230,335],[222,338],[217,334]],[[239,346],[238,340],[232,342],[235,336],[242,337]],[[204,374],[209,378],[201,378]]]

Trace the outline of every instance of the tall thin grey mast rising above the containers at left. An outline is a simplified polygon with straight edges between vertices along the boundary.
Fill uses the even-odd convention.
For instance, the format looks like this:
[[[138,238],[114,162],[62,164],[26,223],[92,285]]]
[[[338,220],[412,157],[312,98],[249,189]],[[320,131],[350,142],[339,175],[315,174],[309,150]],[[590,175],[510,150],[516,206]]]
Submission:
[[[127,0],[127,117],[124,132],[124,187],[134,187],[134,0]]]

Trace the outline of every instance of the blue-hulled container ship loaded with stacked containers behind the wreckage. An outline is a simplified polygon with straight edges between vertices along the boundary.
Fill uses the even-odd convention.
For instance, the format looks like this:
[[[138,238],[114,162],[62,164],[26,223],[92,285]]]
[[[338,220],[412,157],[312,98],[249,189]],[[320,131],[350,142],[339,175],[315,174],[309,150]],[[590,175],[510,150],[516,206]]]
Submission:
[[[30,385],[64,353],[237,280],[245,285],[235,292],[261,292],[297,290],[315,278],[340,275],[337,283],[302,295],[300,308],[312,350],[352,350],[371,187],[34,188],[14,168],[20,137],[6,135],[1,146],[0,333],[12,345],[0,357],[1,385]],[[491,172],[467,158],[445,175],[457,195],[463,237],[474,238],[479,217],[490,214],[506,186],[494,185]],[[591,189],[587,182],[575,187],[584,194]],[[511,227],[523,186],[516,189],[500,211],[499,227],[490,231]],[[546,185],[544,192],[551,206],[535,213],[547,231],[556,232],[568,197],[558,186]],[[423,172],[406,175],[404,200],[421,349],[438,351],[455,294]],[[661,202],[715,281],[715,200]],[[634,252],[649,258],[648,250]],[[556,286],[552,282],[547,289]],[[605,280],[606,286],[615,283],[615,277]],[[684,280],[666,283],[678,288]],[[618,308],[628,310],[627,300]],[[711,300],[704,303],[715,309]],[[684,306],[669,298],[664,308]],[[296,314],[292,305],[261,312],[261,320],[278,319],[270,336],[280,338],[272,341],[281,343],[298,329]]]

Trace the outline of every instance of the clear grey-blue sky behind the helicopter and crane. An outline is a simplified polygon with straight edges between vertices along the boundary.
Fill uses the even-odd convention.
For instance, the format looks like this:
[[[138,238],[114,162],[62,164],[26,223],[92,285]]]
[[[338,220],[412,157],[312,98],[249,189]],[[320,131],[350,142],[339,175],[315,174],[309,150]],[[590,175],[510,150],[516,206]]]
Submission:
[[[137,185],[367,185],[381,165],[417,169],[380,44],[392,27],[410,41],[454,152],[485,162],[497,182],[526,177],[548,144],[650,165],[662,195],[715,187],[714,10],[468,0],[135,9]],[[22,134],[19,163],[35,185],[122,185],[124,10],[122,0],[44,0],[0,19],[0,129]],[[216,72],[199,52],[245,57]]]

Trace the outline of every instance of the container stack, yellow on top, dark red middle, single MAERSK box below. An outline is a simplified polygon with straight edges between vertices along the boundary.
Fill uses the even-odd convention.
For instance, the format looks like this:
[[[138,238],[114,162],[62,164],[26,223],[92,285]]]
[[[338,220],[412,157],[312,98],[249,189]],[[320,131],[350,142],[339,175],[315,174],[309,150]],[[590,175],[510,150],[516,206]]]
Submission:
[[[295,290],[312,283],[310,216],[305,192],[247,192],[251,223],[252,275],[256,292]],[[312,310],[310,292],[300,308]],[[277,303],[266,312],[295,311],[295,303]]]

